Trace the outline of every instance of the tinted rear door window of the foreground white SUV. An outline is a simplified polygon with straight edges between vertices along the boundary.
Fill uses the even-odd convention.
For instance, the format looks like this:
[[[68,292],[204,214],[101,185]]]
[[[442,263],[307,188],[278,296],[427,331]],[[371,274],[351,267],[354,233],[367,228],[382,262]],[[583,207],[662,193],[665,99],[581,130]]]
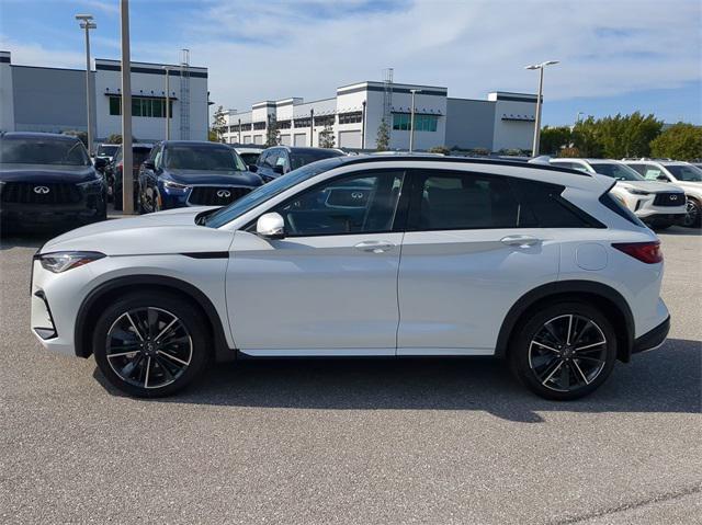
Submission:
[[[422,174],[412,202],[414,228],[513,228],[520,204],[506,178],[472,173]]]

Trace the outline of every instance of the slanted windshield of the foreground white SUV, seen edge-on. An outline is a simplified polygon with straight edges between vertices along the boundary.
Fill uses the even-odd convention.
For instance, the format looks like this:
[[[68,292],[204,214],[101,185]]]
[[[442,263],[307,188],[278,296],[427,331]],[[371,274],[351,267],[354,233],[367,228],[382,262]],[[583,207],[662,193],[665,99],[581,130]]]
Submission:
[[[202,224],[210,228],[219,228],[220,226],[224,226],[253,209],[269,198],[273,198],[275,195],[283,193],[288,187],[293,187],[295,184],[299,184],[301,182],[319,173],[329,171],[332,168],[338,167],[340,163],[341,162],[337,159],[327,159],[293,170],[268,184],[257,187],[251,193],[248,193],[238,201],[231,203],[229,206],[220,208],[214,214],[208,215],[204,218]]]

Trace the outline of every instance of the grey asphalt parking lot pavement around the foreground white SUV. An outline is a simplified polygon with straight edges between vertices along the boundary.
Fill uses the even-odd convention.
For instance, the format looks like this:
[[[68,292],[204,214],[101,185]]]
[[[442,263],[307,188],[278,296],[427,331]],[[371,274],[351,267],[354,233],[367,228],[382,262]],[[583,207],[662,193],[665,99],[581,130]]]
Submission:
[[[46,237],[4,239],[0,521],[690,523],[702,237],[660,237],[669,341],[569,403],[490,359],[242,362],[125,398],[92,358],[41,350],[29,272]]]

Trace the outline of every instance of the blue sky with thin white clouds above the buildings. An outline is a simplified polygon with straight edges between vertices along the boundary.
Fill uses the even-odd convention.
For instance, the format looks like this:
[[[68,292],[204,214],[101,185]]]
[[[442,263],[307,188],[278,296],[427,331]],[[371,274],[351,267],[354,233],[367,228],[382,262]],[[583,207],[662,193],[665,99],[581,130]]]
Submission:
[[[84,68],[73,16],[86,12],[93,57],[118,59],[118,0],[0,0],[0,49]],[[129,16],[132,60],[176,64],[189,48],[225,109],[333,96],[390,67],[450,96],[535,92],[524,66],[559,60],[545,70],[544,124],[634,111],[702,124],[700,0],[132,0]]]

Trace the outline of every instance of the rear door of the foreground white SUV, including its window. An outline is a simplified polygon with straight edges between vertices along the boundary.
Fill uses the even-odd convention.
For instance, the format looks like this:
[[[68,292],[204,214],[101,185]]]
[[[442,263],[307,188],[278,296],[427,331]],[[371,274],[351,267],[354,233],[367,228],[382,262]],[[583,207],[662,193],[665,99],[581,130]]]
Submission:
[[[511,306],[558,275],[553,231],[501,175],[411,173],[397,354],[491,355]]]

